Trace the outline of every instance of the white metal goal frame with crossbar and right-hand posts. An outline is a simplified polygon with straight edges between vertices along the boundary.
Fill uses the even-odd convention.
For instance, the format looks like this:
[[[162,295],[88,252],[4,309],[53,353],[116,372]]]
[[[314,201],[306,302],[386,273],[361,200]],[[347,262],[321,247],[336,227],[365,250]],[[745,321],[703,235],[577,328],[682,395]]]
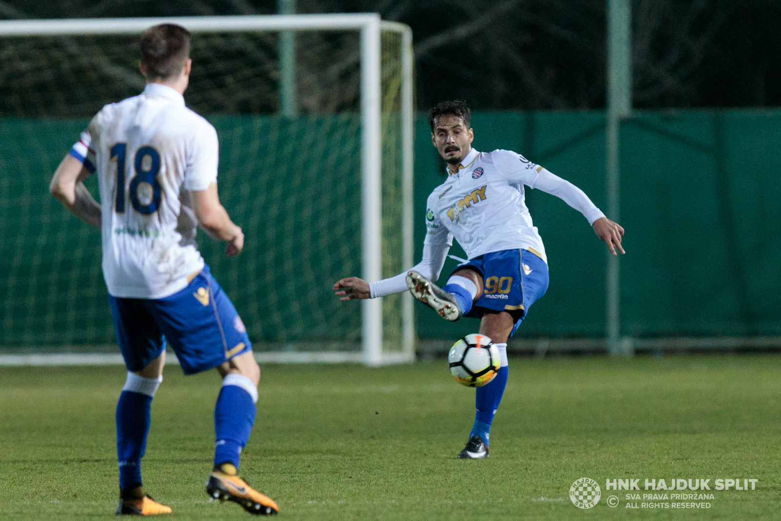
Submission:
[[[192,33],[358,30],[360,31],[361,110],[361,212],[362,277],[369,282],[382,278],[382,143],[381,143],[381,31],[401,36],[401,236],[402,263],[413,265],[413,93],[412,31],[403,23],[388,22],[376,13],[275,15],[275,16],[183,16],[166,18],[2,20],[0,37],[141,34],[159,23],[177,23]],[[301,362],[363,362],[369,366],[412,362],[415,359],[415,326],[412,295],[401,299],[401,351],[383,352],[383,302],[374,298],[362,304],[362,350],[344,352],[264,353],[263,359]]]

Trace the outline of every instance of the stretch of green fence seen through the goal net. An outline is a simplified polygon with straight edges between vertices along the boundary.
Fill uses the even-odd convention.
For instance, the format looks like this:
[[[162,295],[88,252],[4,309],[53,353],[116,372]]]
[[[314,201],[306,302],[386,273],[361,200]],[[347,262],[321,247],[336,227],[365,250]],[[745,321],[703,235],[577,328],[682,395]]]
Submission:
[[[202,233],[199,246],[251,339],[359,348],[360,311],[331,290],[333,277],[360,274],[359,116],[210,120],[220,198],[246,241],[233,259]],[[0,346],[114,342],[100,232],[48,194],[86,124],[0,120]],[[95,177],[88,182],[95,194]]]

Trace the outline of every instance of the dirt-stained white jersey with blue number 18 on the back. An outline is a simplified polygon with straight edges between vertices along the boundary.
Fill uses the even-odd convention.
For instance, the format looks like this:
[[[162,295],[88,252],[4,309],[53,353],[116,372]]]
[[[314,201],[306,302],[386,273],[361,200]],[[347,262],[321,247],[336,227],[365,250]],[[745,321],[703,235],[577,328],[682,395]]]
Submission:
[[[164,298],[203,269],[188,191],[216,183],[217,147],[214,127],[162,84],[92,119],[71,155],[97,171],[109,294]]]

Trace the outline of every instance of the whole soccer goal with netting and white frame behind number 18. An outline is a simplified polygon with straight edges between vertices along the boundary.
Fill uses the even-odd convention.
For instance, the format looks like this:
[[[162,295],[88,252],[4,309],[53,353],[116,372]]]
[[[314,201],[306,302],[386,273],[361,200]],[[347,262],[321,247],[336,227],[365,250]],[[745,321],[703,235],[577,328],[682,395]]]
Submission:
[[[412,266],[411,34],[367,14],[0,22],[2,351],[116,351],[100,233],[47,188],[91,116],[143,89],[138,35],[163,22],[193,33],[185,100],[246,237],[227,259],[201,234],[201,253],[259,358],[412,360],[408,294],[331,289]]]

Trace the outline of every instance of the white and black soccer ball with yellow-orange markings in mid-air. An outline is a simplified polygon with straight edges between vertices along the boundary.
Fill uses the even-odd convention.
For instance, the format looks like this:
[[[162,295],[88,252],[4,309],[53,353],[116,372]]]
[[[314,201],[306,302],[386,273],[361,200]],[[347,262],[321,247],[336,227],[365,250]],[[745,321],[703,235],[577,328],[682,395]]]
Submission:
[[[499,348],[484,334],[468,334],[453,344],[448,353],[450,373],[459,384],[482,387],[494,380],[501,357]]]

